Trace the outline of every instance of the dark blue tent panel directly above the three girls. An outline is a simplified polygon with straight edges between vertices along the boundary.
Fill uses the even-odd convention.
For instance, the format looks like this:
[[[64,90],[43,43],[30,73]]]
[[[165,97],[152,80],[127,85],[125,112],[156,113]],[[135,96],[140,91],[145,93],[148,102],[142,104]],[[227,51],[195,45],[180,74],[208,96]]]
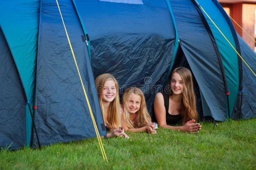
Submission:
[[[170,70],[176,36],[165,0],[143,4],[76,1],[90,36],[94,76],[113,74],[121,96],[128,87],[140,87],[151,112]]]

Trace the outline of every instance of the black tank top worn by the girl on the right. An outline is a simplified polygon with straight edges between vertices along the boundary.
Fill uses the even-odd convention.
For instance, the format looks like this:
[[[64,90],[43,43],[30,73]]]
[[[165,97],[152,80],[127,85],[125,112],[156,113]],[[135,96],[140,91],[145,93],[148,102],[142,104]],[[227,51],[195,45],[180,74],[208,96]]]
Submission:
[[[166,124],[177,124],[181,123],[181,114],[178,115],[170,115],[169,114],[169,94],[166,94],[165,92],[162,93],[164,96],[164,107],[165,107],[165,117],[166,117]],[[153,109],[153,115],[152,115],[152,120],[156,122],[156,116],[155,116],[155,111]]]

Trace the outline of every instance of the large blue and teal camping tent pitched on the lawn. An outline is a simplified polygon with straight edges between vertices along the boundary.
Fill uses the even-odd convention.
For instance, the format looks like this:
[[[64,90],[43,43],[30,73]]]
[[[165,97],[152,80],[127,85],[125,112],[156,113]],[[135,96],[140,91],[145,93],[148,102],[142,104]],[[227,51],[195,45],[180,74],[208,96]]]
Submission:
[[[2,1],[0,15],[2,147],[35,136],[28,101],[43,145],[96,137],[89,107],[106,135],[94,78],[107,72],[120,95],[139,87],[152,114],[172,69],[185,66],[202,118],[255,117],[255,53],[216,0]]]

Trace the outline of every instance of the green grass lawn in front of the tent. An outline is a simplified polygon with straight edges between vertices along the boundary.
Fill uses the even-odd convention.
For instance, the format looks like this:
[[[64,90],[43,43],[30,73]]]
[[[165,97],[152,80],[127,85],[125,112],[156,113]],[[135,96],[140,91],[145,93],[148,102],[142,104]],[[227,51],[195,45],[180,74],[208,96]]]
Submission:
[[[256,118],[201,122],[196,134],[159,128],[157,134],[127,133],[130,139],[97,138],[0,151],[0,169],[256,169]]]

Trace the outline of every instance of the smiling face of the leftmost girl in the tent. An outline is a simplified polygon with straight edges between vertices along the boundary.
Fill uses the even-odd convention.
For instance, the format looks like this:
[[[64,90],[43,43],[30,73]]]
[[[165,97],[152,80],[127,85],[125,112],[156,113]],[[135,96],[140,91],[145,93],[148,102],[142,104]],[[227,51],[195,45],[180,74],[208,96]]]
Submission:
[[[115,81],[113,80],[106,81],[103,87],[101,97],[102,97],[103,103],[110,103],[116,98]]]

